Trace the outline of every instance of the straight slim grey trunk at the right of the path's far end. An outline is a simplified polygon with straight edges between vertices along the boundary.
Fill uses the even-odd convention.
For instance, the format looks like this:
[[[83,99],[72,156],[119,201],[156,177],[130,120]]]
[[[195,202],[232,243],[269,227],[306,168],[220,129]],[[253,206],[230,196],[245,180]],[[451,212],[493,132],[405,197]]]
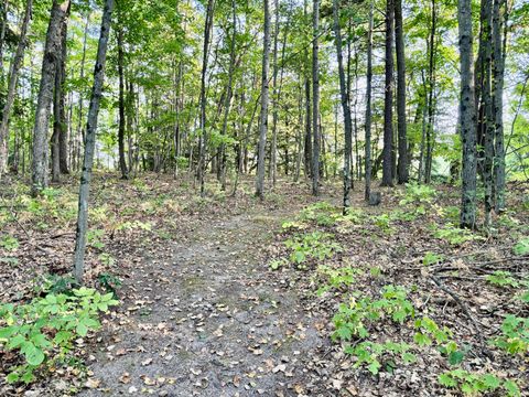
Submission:
[[[268,69],[270,67],[270,4],[269,0],[263,1],[264,7],[264,36],[262,50],[262,76],[261,76],[261,116],[259,122],[259,147],[257,154],[257,183],[256,195],[264,198],[264,157],[267,147],[268,129]]]

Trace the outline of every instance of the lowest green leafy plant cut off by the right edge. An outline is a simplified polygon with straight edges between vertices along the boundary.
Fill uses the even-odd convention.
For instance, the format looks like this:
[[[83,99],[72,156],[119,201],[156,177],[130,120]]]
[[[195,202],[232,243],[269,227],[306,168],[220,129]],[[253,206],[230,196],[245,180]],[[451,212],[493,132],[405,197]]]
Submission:
[[[529,319],[508,314],[501,323],[501,334],[490,343],[509,354],[529,353]]]

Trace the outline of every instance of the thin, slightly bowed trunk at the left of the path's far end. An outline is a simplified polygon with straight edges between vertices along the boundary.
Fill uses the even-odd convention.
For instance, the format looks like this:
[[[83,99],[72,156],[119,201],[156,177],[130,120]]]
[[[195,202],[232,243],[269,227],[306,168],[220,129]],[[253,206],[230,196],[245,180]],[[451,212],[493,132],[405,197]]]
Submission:
[[[198,180],[201,183],[201,196],[206,195],[204,178],[206,169],[206,150],[207,150],[207,130],[206,130],[206,73],[209,53],[209,40],[213,29],[213,13],[215,9],[215,0],[207,1],[206,22],[204,26],[204,54],[202,58],[201,75],[201,140],[199,140],[199,159],[198,159]]]

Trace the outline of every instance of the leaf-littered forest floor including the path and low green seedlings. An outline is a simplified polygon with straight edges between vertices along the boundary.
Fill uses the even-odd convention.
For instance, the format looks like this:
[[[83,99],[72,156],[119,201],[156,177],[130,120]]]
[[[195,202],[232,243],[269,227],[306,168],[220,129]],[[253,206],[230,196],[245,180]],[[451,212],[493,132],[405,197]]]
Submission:
[[[527,395],[527,185],[484,235],[454,226],[445,185],[384,190],[377,207],[358,187],[342,216],[338,183],[314,198],[283,181],[261,203],[252,182],[201,198],[185,179],[97,174],[87,283],[120,304],[29,386],[4,383],[20,356],[0,345],[0,395]],[[68,185],[2,190],[2,302],[69,272]]]

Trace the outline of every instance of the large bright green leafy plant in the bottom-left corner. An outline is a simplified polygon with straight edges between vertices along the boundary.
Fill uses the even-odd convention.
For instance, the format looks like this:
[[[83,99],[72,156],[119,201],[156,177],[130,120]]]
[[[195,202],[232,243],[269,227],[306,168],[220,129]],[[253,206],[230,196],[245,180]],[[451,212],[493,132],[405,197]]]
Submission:
[[[99,312],[118,304],[112,293],[100,294],[82,287],[72,293],[47,293],[25,304],[2,304],[0,342],[19,352],[24,363],[11,368],[9,383],[32,383],[34,371],[45,362],[60,362],[72,350],[73,341],[86,336],[100,324]]]

